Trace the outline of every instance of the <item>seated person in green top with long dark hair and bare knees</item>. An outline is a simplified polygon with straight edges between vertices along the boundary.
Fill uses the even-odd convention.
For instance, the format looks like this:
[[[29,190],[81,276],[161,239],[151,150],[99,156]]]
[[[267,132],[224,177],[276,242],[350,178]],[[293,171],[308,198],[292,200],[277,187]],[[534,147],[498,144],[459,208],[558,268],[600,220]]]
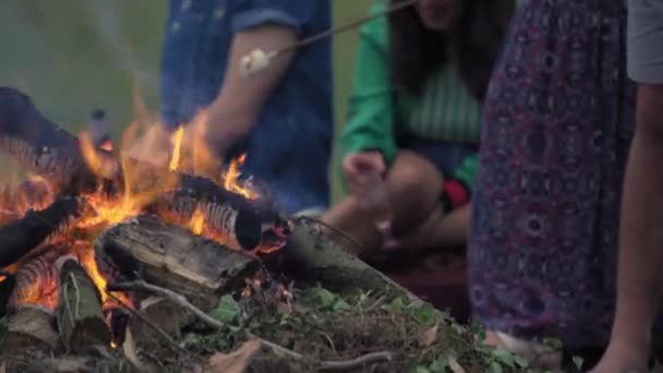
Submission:
[[[419,0],[361,27],[340,137],[350,194],[323,216],[361,244],[358,254],[465,243],[481,103],[514,8]]]

